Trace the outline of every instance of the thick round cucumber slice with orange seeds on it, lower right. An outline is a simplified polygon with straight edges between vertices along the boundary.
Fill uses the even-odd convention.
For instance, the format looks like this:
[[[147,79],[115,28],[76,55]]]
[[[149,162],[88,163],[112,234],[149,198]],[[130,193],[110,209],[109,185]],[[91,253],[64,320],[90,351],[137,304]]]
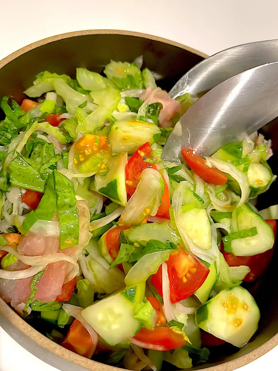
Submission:
[[[196,324],[236,347],[243,347],[258,329],[259,308],[241,286],[222,290],[196,310]]]

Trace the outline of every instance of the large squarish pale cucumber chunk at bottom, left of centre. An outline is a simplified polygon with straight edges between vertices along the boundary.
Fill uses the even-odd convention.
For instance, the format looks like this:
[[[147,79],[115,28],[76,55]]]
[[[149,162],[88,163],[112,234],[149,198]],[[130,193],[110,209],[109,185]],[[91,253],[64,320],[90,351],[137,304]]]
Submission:
[[[81,315],[109,345],[116,345],[135,336],[141,327],[133,317],[135,306],[119,292],[83,309]]]

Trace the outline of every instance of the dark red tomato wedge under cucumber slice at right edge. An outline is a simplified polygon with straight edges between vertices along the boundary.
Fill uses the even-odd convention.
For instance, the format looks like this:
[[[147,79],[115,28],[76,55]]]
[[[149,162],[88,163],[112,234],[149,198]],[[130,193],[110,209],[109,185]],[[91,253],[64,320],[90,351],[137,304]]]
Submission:
[[[266,220],[266,222],[271,226],[271,229],[273,230],[275,237],[277,231],[276,220]],[[231,253],[227,253],[223,249],[223,246],[221,247],[221,252],[224,255],[224,258],[230,267],[247,265],[251,269],[251,272],[249,272],[243,280],[247,282],[252,282],[259,276],[261,276],[261,274],[269,265],[272,255],[274,253],[274,246],[272,247],[272,249],[269,249],[262,254],[257,254],[253,256],[235,256]]]

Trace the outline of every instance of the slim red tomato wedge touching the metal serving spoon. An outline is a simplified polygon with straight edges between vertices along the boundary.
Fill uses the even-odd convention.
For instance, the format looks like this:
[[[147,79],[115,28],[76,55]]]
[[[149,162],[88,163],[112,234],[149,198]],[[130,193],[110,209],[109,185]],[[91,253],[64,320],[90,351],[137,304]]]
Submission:
[[[182,156],[190,168],[206,183],[221,185],[225,184],[228,180],[228,177],[225,173],[216,169],[215,167],[208,167],[205,160],[198,156],[194,150],[191,150],[191,148],[182,150]]]

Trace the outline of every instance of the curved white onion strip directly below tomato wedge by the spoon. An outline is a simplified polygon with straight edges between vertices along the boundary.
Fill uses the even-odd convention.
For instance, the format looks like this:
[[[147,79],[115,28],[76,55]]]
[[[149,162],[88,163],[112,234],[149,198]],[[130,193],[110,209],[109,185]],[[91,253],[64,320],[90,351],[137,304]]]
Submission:
[[[241,199],[236,207],[243,205],[248,200],[249,182],[246,174],[241,173],[241,171],[230,162],[219,160],[214,157],[206,157],[206,165],[209,167],[216,167],[218,170],[231,175],[238,182],[241,189]]]

